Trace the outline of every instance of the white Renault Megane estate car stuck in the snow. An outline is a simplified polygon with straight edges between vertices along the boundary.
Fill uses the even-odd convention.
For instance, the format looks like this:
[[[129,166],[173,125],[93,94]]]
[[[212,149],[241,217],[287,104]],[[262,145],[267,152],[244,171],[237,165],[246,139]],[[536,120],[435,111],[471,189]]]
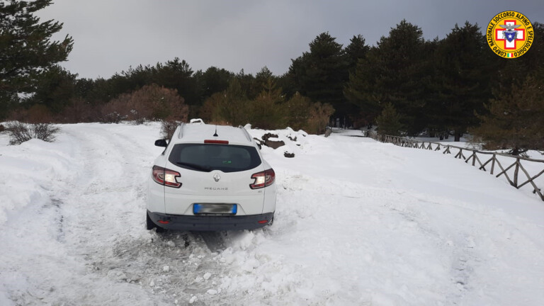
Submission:
[[[181,124],[155,159],[147,229],[220,231],[271,225],[276,174],[245,128]]]

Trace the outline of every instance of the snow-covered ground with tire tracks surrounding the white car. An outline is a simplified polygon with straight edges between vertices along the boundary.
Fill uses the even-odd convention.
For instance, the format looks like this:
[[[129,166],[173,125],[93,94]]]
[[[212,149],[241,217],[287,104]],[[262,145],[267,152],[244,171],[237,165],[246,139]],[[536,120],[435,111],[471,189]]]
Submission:
[[[262,150],[272,227],[156,234],[144,224],[158,137],[157,124],[0,136],[0,305],[544,305],[544,202],[504,179],[438,152],[281,130],[285,147]]]

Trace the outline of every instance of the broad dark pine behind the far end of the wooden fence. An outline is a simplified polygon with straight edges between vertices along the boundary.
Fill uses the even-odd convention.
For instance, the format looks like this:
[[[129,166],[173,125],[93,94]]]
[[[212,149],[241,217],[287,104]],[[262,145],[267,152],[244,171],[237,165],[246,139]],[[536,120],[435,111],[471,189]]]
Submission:
[[[401,21],[358,61],[344,89],[346,98],[369,117],[378,115],[386,103],[392,103],[402,113],[409,134],[419,132],[426,125],[424,106],[431,79],[429,51],[421,29]]]

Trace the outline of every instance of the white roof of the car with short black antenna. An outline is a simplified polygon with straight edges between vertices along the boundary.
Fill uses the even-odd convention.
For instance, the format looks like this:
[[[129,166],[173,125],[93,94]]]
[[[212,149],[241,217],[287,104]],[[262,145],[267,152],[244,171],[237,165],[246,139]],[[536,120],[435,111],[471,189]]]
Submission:
[[[216,130],[217,128],[217,130]],[[203,142],[204,140],[228,140],[229,143],[249,145],[251,137],[244,128],[227,125],[182,124],[176,142]],[[217,136],[214,136],[217,131]]]

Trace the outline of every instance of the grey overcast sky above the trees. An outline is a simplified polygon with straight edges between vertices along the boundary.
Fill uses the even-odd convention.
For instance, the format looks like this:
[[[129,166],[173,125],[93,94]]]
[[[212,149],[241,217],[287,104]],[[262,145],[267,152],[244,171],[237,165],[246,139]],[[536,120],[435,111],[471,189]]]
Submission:
[[[210,66],[255,74],[288,71],[319,33],[346,46],[361,34],[369,45],[405,18],[426,39],[443,38],[465,21],[487,23],[501,11],[544,23],[543,0],[54,0],[38,12],[64,23],[74,50],[62,65],[79,77],[111,77],[138,64],[179,57],[191,68]]]

